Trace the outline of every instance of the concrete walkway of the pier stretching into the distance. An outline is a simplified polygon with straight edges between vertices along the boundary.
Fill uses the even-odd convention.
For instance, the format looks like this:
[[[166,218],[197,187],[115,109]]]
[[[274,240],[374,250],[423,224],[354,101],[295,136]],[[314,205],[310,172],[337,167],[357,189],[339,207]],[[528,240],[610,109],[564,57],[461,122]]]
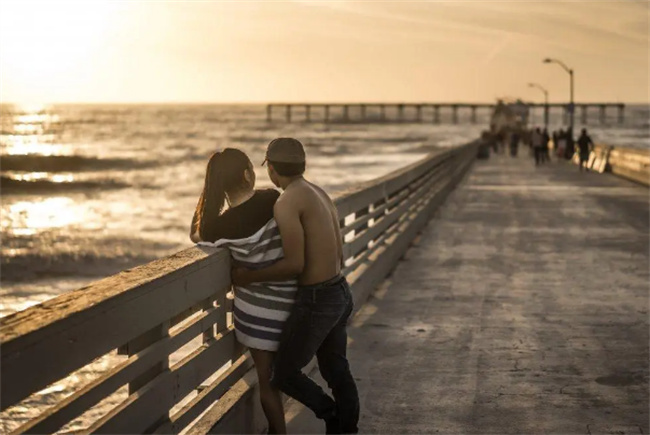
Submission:
[[[349,329],[361,432],[650,433],[648,204],[565,162],[477,161]]]

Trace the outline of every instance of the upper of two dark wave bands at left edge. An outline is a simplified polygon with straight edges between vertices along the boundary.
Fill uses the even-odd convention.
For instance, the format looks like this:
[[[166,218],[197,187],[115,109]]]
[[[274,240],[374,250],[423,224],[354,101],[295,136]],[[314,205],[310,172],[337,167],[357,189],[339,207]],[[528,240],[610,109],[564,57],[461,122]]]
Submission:
[[[106,169],[133,169],[158,165],[143,160],[98,158],[78,155],[8,154],[2,156],[3,171],[83,172]]]

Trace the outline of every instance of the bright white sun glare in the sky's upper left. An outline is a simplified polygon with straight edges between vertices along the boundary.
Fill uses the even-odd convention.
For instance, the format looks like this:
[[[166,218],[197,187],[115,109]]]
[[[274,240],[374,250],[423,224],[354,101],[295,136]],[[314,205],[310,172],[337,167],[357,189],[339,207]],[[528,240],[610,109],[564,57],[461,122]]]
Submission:
[[[119,2],[0,0],[0,68],[29,103],[67,83],[98,55]],[[18,103],[24,103],[20,101]]]

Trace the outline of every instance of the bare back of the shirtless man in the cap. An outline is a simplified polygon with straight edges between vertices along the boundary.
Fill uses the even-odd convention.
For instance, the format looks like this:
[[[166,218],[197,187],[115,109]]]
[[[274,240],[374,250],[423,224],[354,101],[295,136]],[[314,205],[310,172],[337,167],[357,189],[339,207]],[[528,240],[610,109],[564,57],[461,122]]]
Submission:
[[[320,187],[299,179],[287,187],[278,206],[287,202],[298,210],[304,231],[305,264],[298,283],[317,284],[338,275],[341,271],[341,233],[332,200]]]

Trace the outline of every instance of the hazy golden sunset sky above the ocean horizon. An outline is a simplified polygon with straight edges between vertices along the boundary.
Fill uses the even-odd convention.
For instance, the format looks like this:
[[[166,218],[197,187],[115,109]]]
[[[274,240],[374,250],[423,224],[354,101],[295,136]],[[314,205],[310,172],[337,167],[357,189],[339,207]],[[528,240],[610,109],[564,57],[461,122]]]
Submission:
[[[648,1],[0,0],[13,103],[648,103]]]

